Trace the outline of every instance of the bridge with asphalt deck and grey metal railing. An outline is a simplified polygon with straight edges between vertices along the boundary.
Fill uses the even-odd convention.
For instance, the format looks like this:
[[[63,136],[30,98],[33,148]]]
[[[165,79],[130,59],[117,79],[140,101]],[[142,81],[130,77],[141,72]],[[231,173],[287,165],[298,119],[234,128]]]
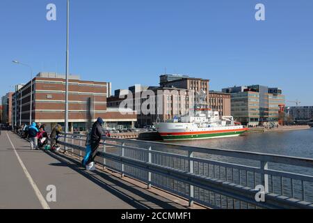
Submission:
[[[312,159],[104,137],[90,172],[85,141],[62,134],[61,151],[30,151],[3,131],[0,208],[313,208]]]

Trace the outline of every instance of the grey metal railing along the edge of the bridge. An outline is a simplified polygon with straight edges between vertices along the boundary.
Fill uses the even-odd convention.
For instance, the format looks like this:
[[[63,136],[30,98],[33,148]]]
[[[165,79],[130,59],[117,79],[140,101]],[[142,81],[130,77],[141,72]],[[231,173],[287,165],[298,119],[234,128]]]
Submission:
[[[62,134],[67,152],[85,155],[86,135]],[[104,137],[97,164],[210,208],[313,208],[313,160]],[[256,187],[264,187],[258,202]]]

